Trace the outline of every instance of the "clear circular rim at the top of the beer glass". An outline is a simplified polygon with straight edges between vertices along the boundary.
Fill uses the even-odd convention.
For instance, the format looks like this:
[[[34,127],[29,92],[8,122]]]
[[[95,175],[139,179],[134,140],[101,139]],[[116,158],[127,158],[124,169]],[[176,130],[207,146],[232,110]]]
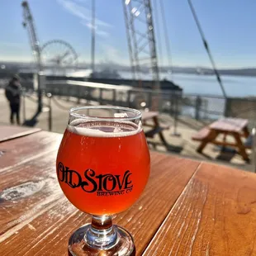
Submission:
[[[86,114],[78,114],[74,111],[79,110],[87,110],[87,109],[113,109],[113,110],[121,110],[121,111],[130,111],[135,113],[135,116],[126,116],[126,117],[109,117],[109,116],[89,116]],[[71,107],[69,109],[69,116],[81,118],[81,119],[89,119],[92,121],[133,121],[136,119],[140,119],[142,114],[139,110],[130,107],[116,107],[116,106],[107,106],[107,105],[99,105],[99,106],[80,106],[80,107]]]

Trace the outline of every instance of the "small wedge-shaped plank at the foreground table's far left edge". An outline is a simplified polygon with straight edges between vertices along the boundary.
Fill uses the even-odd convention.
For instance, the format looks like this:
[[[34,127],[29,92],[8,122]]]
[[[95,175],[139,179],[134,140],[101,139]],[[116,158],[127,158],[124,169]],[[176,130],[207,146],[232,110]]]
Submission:
[[[31,128],[26,126],[0,126],[0,142],[30,135],[37,131],[40,131],[40,128]]]

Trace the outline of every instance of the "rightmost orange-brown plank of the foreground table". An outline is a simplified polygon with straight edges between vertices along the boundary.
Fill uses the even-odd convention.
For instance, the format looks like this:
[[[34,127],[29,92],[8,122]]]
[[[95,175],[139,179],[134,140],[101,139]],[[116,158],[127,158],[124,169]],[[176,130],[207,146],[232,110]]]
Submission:
[[[256,175],[201,164],[143,255],[255,255]]]

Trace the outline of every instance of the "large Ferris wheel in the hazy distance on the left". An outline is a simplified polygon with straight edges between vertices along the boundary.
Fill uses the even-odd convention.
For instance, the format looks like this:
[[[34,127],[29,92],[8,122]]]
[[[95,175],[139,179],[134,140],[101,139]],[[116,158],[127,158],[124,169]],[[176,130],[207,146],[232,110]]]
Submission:
[[[55,73],[65,73],[78,68],[78,55],[64,40],[50,40],[40,49],[41,63],[44,69]]]

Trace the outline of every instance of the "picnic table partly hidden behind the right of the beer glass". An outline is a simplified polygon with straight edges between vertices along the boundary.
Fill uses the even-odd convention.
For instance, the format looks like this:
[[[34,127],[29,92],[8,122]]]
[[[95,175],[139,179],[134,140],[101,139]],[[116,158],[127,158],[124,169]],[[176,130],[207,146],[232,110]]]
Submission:
[[[154,138],[155,135],[159,135],[160,140],[164,146],[168,147],[168,143],[164,138],[163,130],[168,130],[169,126],[159,123],[159,112],[158,111],[141,111],[142,113],[142,124],[143,126],[150,127],[150,130],[145,131],[145,136],[148,138]],[[152,121],[153,124],[149,124]]]

